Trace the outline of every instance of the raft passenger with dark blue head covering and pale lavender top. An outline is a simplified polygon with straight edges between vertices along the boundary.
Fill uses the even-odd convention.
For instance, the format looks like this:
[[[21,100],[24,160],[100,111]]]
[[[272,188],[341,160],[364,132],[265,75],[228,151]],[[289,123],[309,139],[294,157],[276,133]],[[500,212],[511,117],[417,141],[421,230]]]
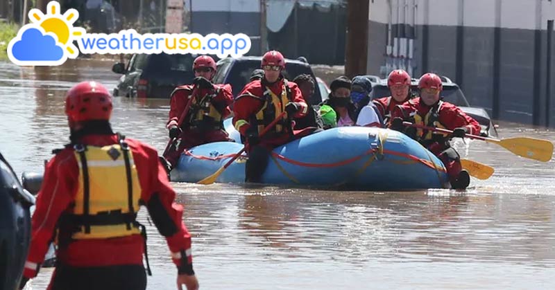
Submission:
[[[364,127],[383,127],[384,122],[377,111],[376,105],[374,105],[373,102],[366,101],[370,100],[371,91],[372,82],[364,75],[357,75],[355,78],[352,78],[352,102],[355,103],[355,105],[366,103],[364,107],[360,108],[356,125]]]

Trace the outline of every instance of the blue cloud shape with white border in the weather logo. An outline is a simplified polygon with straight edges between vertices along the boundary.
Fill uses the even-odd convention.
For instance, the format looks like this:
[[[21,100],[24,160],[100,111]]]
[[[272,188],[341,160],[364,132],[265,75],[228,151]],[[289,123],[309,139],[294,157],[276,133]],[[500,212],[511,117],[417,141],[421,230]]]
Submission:
[[[56,45],[54,37],[44,35],[41,30],[33,27],[25,29],[21,38],[12,39],[8,46],[8,56],[12,62],[22,65],[53,65],[67,59],[63,49]]]

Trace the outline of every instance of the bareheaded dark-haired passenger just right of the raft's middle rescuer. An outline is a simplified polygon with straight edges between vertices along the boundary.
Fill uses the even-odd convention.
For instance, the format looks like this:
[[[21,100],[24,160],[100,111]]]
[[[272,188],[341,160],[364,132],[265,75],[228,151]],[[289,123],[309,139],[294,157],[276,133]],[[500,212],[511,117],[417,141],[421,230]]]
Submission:
[[[314,89],[316,88],[316,84],[314,79],[311,75],[301,74],[297,75],[296,78],[293,79],[299,89],[300,93],[302,93],[302,98],[305,99],[307,104],[311,104],[311,98],[314,96]],[[295,119],[295,127],[296,130],[306,129],[306,128],[314,128],[312,133],[322,131],[324,127],[322,116],[320,116],[320,106],[318,105],[308,105],[307,115],[302,118]]]

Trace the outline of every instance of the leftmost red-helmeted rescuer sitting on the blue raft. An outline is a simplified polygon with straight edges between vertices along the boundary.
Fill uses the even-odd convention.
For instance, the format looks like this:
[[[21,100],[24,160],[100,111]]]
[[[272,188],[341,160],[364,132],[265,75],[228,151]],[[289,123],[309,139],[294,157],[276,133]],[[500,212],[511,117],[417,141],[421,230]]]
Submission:
[[[205,143],[230,141],[229,135],[223,129],[223,119],[231,114],[230,105],[233,93],[230,84],[212,84],[216,74],[216,62],[212,57],[200,55],[193,62],[195,79],[193,84],[177,87],[171,93],[169,120],[167,129],[169,138],[177,138],[178,146],[171,146],[164,156],[169,172],[176,164],[183,150]],[[198,93],[189,99],[194,88]],[[182,124],[178,121],[191,102],[189,111],[185,114]]]

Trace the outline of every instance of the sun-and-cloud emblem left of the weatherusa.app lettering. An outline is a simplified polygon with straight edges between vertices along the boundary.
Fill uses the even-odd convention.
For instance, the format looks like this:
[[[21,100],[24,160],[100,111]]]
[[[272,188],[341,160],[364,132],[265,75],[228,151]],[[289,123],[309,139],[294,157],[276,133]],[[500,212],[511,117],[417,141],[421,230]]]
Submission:
[[[8,57],[19,66],[58,66],[79,51],[74,37],[85,34],[85,28],[73,27],[79,12],[73,8],[60,14],[60,3],[51,1],[46,15],[38,9],[29,11],[31,24],[26,24],[8,44]]]

